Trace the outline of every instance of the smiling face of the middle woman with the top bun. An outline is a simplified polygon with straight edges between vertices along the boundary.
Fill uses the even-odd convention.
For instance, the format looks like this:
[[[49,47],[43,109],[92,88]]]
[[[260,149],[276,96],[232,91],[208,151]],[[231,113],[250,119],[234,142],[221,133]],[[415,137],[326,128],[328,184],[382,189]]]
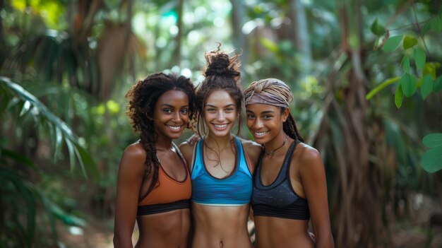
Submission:
[[[230,134],[238,116],[237,105],[225,90],[210,93],[204,105],[204,121],[209,134],[226,136]]]

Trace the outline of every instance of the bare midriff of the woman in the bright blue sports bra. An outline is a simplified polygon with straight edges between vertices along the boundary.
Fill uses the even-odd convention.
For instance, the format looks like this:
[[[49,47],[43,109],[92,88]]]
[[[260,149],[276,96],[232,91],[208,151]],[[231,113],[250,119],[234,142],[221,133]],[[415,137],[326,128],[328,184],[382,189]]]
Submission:
[[[251,247],[247,219],[250,205],[206,206],[192,203],[192,248]]]

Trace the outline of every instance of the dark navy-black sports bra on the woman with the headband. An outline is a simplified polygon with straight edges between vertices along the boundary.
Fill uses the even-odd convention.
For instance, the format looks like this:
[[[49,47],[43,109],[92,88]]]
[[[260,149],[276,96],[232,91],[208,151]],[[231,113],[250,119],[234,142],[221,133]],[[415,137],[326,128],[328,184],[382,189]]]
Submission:
[[[293,220],[310,219],[309,203],[294,192],[289,178],[290,160],[298,143],[299,141],[292,142],[275,182],[268,186],[264,186],[261,182],[261,164],[264,155],[264,153],[261,153],[256,174],[253,177],[253,194],[251,199],[253,215]]]

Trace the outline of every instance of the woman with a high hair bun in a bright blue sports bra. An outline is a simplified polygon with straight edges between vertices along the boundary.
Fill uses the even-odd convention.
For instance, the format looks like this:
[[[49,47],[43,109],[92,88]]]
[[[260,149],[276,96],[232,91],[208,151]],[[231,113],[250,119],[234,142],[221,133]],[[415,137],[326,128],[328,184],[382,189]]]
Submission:
[[[197,131],[201,139],[180,150],[191,170],[191,247],[251,247],[247,220],[254,165],[262,147],[232,134],[243,94],[238,54],[220,48],[205,54],[205,79],[196,88]]]

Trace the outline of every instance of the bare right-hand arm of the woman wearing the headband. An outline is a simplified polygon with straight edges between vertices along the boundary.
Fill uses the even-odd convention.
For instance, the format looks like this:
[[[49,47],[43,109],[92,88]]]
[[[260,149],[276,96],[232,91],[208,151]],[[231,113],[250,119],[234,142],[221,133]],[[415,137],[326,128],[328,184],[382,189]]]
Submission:
[[[309,201],[311,224],[316,237],[316,247],[335,247],[330,229],[328,213],[327,184],[325,170],[318,151],[302,146],[299,155],[299,175],[302,187]]]

